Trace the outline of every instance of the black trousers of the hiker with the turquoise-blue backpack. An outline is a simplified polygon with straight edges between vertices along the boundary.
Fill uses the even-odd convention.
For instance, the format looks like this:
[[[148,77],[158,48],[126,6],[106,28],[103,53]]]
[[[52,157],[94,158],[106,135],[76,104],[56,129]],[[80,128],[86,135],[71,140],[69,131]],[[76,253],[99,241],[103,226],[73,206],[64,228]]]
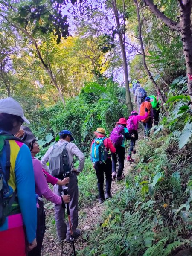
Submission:
[[[105,193],[110,194],[111,191],[111,159],[108,158],[105,163],[95,162],[95,172],[97,175],[97,187],[99,190],[99,198],[104,199],[104,173],[105,173],[105,180],[106,180],[106,186],[105,186]]]

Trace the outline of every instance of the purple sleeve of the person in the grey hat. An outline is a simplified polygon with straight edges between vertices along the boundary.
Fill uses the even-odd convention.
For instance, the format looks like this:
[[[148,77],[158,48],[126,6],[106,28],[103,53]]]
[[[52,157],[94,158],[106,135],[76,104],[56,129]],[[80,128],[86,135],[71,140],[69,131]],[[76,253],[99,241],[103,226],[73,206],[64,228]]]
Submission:
[[[54,194],[47,185],[47,180],[42,170],[41,162],[38,159],[34,161],[34,175],[35,175],[35,185],[41,194],[49,201],[52,201],[55,204],[61,204],[61,197]]]

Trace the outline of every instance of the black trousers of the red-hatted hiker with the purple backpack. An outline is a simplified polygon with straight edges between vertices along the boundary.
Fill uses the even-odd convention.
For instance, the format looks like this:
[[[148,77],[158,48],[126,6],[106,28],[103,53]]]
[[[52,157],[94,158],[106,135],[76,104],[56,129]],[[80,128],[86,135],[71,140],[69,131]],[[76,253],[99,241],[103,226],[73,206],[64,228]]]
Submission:
[[[125,161],[125,148],[122,146],[116,146],[116,153],[112,153],[112,172],[116,172],[116,164],[117,159],[119,162],[119,168],[117,172],[117,177],[121,177],[123,168],[124,168],[124,161]]]

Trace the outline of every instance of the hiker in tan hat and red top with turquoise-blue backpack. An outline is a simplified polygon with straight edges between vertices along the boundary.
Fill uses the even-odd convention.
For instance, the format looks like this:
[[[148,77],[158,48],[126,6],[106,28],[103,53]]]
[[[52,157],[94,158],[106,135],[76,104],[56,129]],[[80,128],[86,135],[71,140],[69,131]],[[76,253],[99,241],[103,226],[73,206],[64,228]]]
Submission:
[[[93,167],[97,175],[97,187],[99,190],[99,203],[103,203],[104,199],[111,198],[111,155],[108,154],[109,150],[111,153],[115,153],[116,149],[113,143],[105,135],[105,130],[103,128],[97,128],[94,131],[96,139],[91,143],[91,160],[93,162]],[[105,173],[105,197],[104,197],[104,173]]]

